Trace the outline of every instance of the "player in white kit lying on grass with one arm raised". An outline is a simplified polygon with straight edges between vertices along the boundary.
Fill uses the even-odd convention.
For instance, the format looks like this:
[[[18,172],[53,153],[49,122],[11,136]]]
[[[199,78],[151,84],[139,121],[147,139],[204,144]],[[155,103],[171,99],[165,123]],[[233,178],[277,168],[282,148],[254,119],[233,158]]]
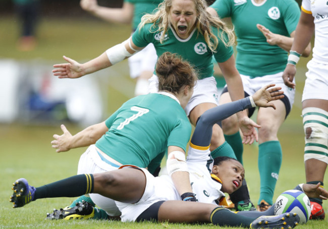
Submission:
[[[38,188],[29,186],[25,179],[19,179],[14,183],[11,202],[14,207],[22,207],[40,198],[98,193],[117,200],[122,221],[169,220],[250,228],[259,228],[261,224],[266,224],[267,228],[294,227],[299,222],[297,214],[245,217],[242,212],[235,214],[218,206],[216,201],[224,201],[225,192],[232,193],[240,187],[244,168],[240,162],[229,157],[217,157],[212,169],[207,167],[211,159],[209,143],[212,126],[247,107],[258,105],[275,108],[269,101],[281,98],[283,92],[278,91],[281,89],[279,87],[269,88],[272,86],[263,87],[251,97],[212,108],[199,118],[187,159],[193,192],[196,194],[187,195],[192,196],[192,199],[198,198],[199,202],[181,201],[170,177],[154,178],[148,170],[131,165],[100,174],[77,175]]]

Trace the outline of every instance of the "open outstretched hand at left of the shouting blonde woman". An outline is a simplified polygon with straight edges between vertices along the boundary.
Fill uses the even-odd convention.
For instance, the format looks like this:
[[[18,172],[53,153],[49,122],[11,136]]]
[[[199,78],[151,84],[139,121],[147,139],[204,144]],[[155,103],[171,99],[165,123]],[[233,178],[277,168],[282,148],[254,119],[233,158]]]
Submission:
[[[85,75],[83,73],[82,64],[66,57],[65,55],[63,56],[63,58],[68,63],[53,65],[53,68],[56,68],[52,70],[54,76],[58,76],[58,78],[60,79],[75,79]]]

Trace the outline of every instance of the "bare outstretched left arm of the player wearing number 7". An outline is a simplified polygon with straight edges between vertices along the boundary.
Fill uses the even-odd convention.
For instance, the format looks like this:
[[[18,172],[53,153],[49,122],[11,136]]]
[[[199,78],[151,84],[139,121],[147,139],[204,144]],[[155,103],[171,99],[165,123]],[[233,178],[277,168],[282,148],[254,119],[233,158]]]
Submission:
[[[108,131],[105,122],[98,123],[85,128],[83,131],[72,135],[64,125],[61,125],[63,134],[54,134],[54,140],[51,141],[52,148],[56,152],[65,152],[73,148],[79,148],[94,144],[102,135]]]

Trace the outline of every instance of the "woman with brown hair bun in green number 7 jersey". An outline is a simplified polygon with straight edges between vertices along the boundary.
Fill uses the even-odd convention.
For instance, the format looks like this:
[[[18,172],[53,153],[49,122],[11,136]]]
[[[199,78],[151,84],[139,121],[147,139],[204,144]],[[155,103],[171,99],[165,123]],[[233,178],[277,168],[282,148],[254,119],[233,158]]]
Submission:
[[[53,135],[52,147],[64,152],[89,146],[80,158],[78,174],[102,173],[124,164],[148,167],[153,174],[168,151],[167,169],[178,192],[192,193],[185,161],[191,126],[183,108],[197,74],[188,62],[169,52],[159,57],[156,74],[158,93],[128,100],[106,121],[73,136],[62,125],[64,133]],[[114,200],[99,194],[90,194],[90,198],[108,215],[121,214]]]

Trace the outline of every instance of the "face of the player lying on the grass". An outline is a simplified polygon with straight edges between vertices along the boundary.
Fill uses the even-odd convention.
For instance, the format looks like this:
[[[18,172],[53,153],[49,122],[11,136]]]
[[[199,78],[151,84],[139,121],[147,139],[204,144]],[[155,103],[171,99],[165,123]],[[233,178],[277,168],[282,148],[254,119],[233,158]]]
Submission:
[[[215,166],[217,166],[217,169],[215,170],[213,167],[213,171],[217,173],[216,176],[222,181],[221,191],[231,194],[241,187],[245,169],[239,161],[226,160]]]

